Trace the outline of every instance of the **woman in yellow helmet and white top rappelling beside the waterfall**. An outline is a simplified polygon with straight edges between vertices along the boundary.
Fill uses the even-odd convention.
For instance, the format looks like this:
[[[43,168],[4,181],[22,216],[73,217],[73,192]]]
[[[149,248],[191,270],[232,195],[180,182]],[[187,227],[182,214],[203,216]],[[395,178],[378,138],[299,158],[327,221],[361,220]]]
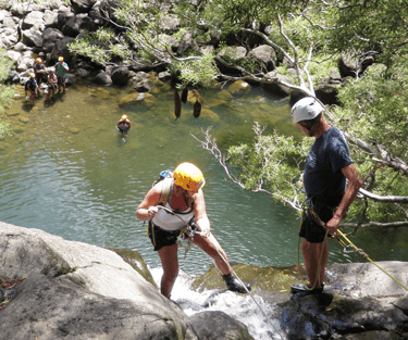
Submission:
[[[205,185],[203,175],[196,165],[182,163],[175,168],[173,178],[154,185],[137,207],[137,218],[149,221],[148,235],[163,267],[160,290],[166,298],[170,298],[178,275],[177,238],[187,224],[200,232],[186,239],[213,259],[227,289],[242,293],[250,289],[233,277],[226,254],[211,234],[202,193]],[[160,209],[160,205],[164,207]]]

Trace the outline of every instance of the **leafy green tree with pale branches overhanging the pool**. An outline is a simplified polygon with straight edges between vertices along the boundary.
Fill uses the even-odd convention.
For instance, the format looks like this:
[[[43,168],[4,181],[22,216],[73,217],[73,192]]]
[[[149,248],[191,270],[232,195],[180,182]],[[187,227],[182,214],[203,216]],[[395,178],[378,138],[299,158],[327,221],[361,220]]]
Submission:
[[[143,58],[168,65],[173,74],[180,73],[184,84],[207,86],[215,78],[246,79],[281,84],[293,92],[312,97],[319,81],[327,78],[337,65],[339,55],[347,53],[356,63],[355,75],[339,89],[341,105],[325,112],[348,138],[364,179],[360,200],[350,209],[347,225],[400,226],[408,224],[406,2],[115,0],[112,8],[104,10],[104,20],[118,30],[106,42],[122,41],[128,60]],[[169,18],[181,24],[169,28]],[[201,52],[194,43],[174,52],[169,29],[181,42],[186,42],[188,34],[196,40],[208,41],[215,32],[222,38],[219,50],[227,41],[250,49],[259,40],[257,43],[269,45],[276,51],[277,72],[256,67],[249,56],[237,60],[218,51]],[[100,54],[110,56],[111,52],[106,49]],[[368,58],[374,62],[369,68],[364,64]],[[221,65],[236,72],[222,73]],[[282,80],[280,74],[290,81]],[[254,130],[252,144],[233,147],[226,153],[220,151],[209,130],[201,142],[234,182],[248,190],[269,192],[299,210],[302,162],[310,140],[299,142],[277,133],[263,136],[258,125]],[[231,165],[237,165],[238,171],[233,172]]]

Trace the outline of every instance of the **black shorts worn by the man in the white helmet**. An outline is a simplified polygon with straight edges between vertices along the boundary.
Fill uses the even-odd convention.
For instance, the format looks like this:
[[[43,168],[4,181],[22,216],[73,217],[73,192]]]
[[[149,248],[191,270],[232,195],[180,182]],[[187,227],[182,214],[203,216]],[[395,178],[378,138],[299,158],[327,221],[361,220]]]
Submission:
[[[314,213],[324,223],[332,219],[335,210],[322,204],[313,204]],[[324,241],[326,235],[326,229],[318,224],[316,219],[311,216],[310,209],[308,209],[307,214],[301,218],[301,226],[299,236],[305,238],[310,243],[321,243]]]

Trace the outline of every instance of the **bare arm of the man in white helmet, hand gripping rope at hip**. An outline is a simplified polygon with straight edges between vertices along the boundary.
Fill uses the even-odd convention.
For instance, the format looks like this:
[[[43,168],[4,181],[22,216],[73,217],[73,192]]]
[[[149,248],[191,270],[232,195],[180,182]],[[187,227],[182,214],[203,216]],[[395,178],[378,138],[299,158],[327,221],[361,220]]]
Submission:
[[[342,173],[348,179],[348,185],[342,202],[338,204],[337,211],[335,212],[333,218],[326,223],[326,227],[332,234],[335,234],[338,229],[338,225],[342,222],[343,216],[347,213],[348,207],[356,199],[358,190],[362,186],[360,175],[358,174],[354,164],[343,167]]]

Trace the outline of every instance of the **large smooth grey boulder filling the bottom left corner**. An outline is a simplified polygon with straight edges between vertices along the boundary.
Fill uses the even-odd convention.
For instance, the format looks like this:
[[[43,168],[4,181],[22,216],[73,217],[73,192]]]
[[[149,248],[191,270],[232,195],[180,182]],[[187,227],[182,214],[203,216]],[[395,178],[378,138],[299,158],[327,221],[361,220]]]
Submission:
[[[0,339],[200,339],[184,312],[113,251],[0,223],[0,254],[2,279],[25,278],[2,289],[10,300]],[[228,323],[233,339],[251,339],[224,315]]]

